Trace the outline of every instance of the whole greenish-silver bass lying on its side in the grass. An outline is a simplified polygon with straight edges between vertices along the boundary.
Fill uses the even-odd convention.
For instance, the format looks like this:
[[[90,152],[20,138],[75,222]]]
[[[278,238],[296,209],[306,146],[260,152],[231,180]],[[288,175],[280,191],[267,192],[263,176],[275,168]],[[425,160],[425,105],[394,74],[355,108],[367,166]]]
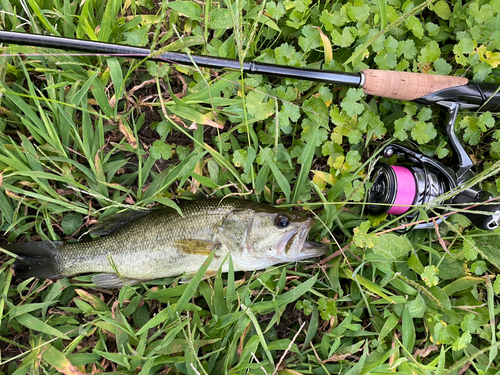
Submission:
[[[214,252],[205,277],[219,268],[254,271],[324,255],[307,241],[315,220],[303,213],[243,199],[203,199],[170,207],[125,211],[96,224],[89,241],[36,241],[4,246],[16,254],[16,277],[60,279],[96,273],[92,282],[120,288],[183,275],[188,281]]]

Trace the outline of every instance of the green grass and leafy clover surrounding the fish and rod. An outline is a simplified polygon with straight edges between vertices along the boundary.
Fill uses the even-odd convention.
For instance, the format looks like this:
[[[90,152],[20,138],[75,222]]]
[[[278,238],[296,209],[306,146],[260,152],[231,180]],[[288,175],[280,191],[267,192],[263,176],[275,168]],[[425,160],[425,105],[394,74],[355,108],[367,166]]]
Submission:
[[[499,84],[494,6],[2,0],[0,27]],[[330,244],[322,260],[230,267],[208,280],[201,269],[189,284],[120,290],[95,288],[89,275],[20,281],[4,255],[3,374],[498,372],[498,230],[454,215],[438,231],[396,234],[397,220],[364,212],[367,175],[387,142],[450,162],[437,112],[279,77],[31,47],[3,53],[0,245],[78,239],[124,208],[228,195],[308,210],[318,218],[311,238]],[[458,128],[476,180],[498,195],[497,121],[463,114]]]

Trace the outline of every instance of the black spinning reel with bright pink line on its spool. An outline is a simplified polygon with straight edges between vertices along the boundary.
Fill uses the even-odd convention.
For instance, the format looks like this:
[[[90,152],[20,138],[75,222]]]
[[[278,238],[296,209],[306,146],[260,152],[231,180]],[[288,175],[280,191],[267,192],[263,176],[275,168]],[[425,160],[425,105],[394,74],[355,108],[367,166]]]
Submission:
[[[490,85],[477,85],[475,89],[483,97],[488,97],[488,89],[494,89]],[[496,89],[496,88],[495,88]],[[457,89],[455,89],[457,91]],[[422,98],[425,99],[425,98]],[[420,100],[424,102],[424,100]],[[403,215],[405,222],[417,221],[420,217],[418,210],[412,210],[414,207],[432,204],[446,205],[450,208],[465,209],[471,207],[472,213],[461,211],[471,222],[483,230],[494,230],[500,226],[500,204],[484,203],[493,199],[493,197],[481,189],[479,184],[461,189],[465,183],[475,176],[473,171],[473,162],[467,155],[462,142],[455,133],[455,122],[458,112],[461,109],[479,108],[479,105],[448,100],[433,100],[426,104],[438,104],[446,108],[446,116],[442,119],[446,127],[448,139],[453,150],[452,167],[448,167],[437,160],[429,158],[421,153],[412,151],[406,147],[397,144],[387,146],[383,151],[385,158],[393,155],[399,155],[405,158],[404,165],[389,165],[384,162],[378,162],[373,170],[370,182],[371,188],[368,191],[367,210],[373,215],[390,214],[394,216]],[[497,103],[491,103],[486,110],[496,110]],[[452,190],[458,190],[459,193],[452,198],[440,199],[446,193]],[[430,209],[427,208],[430,211]],[[443,209],[436,209],[429,213],[429,217],[440,217],[435,221],[437,223],[446,218],[450,213]],[[414,229],[430,229],[434,227],[434,222],[425,222],[416,224]]]

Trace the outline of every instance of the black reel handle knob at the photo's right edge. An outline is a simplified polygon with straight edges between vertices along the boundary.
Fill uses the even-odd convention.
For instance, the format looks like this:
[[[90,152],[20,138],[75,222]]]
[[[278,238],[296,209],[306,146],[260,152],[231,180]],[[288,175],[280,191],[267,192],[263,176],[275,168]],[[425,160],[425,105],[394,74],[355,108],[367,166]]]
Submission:
[[[500,203],[482,204],[491,199],[493,199],[493,197],[490,194],[483,190],[480,190],[474,197],[471,197],[468,194],[459,194],[453,199],[452,203],[462,204],[460,208],[464,208],[463,204],[476,204],[471,208],[471,210],[491,212],[491,215],[474,214],[469,212],[462,212],[462,214],[467,216],[472,224],[474,224],[479,229],[495,230],[500,226]]]

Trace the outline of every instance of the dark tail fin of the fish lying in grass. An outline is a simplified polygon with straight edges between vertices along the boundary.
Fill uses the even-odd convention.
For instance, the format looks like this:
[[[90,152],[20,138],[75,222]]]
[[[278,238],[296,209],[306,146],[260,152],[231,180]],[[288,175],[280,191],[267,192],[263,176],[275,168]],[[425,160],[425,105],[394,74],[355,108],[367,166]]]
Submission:
[[[14,274],[20,279],[36,277],[38,279],[60,279],[55,254],[62,241],[39,241],[16,243],[3,246],[17,255],[12,265]]]

